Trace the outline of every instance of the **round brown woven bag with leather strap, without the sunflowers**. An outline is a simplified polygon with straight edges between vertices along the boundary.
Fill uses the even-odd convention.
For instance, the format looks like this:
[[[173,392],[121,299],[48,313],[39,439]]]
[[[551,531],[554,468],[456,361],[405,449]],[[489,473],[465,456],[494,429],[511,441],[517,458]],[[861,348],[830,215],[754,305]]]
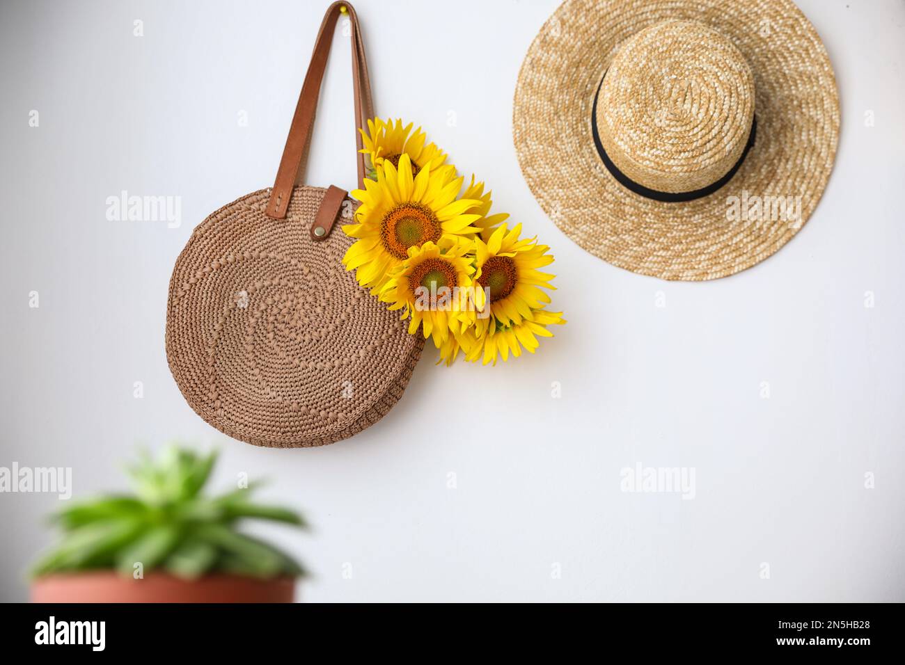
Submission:
[[[170,280],[167,360],[176,384],[207,423],[254,445],[318,446],[361,432],[402,396],[424,347],[342,265],[352,239],[333,226],[351,219],[356,203],[335,186],[296,185],[344,11],[356,127],[374,117],[355,10],[335,3],[320,26],[275,184],[195,228]],[[363,187],[365,156],[357,157]]]

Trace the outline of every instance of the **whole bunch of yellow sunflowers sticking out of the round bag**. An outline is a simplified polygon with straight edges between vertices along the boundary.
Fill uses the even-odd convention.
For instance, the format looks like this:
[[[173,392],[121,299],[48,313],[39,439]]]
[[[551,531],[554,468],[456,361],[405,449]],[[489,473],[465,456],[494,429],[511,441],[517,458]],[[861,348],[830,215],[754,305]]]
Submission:
[[[554,275],[547,245],[522,239],[521,224],[491,214],[491,192],[446,164],[421,128],[402,120],[367,121],[362,152],[370,157],[356,223],[343,226],[356,242],[343,264],[359,284],[401,310],[408,332],[433,339],[439,362],[462,354],[484,365],[538,348],[547,328],[566,323],[546,309]]]

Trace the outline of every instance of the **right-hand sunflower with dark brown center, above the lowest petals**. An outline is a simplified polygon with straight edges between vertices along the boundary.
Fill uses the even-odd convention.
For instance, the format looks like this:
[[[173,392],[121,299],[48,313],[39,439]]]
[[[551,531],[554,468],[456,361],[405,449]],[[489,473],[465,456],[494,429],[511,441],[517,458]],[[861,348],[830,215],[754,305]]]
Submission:
[[[487,242],[481,238],[475,240],[478,285],[489,291],[492,315],[476,319],[478,337],[483,335],[491,318],[504,327],[530,318],[532,310],[541,309],[550,301],[539,287],[555,289],[549,283],[554,276],[538,270],[553,262],[547,253],[549,247],[538,245],[533,238],[519,240],[519,233],[521,224],[509,229],[502,223]]]

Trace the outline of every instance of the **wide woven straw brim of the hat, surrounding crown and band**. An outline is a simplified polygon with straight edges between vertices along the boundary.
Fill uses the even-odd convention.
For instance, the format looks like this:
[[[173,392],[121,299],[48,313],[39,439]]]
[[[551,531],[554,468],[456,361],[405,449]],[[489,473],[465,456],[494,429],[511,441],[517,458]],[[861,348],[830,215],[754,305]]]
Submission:
[[[620,185],[591,130],[595,90],[619,45],[670,19],[726,35],[748,59],[756,90],[757,140],[738,172],[681,203]],[[792,239],[824,193],[839,126],[829,56],[791,0],[566,0],[522,63],[512,119],[522,173],[564,233],[620,268],[692,281],[743,271]],[[767,205],[739,215],[742,200]],[[792,209],[776,214],[777,201]]]

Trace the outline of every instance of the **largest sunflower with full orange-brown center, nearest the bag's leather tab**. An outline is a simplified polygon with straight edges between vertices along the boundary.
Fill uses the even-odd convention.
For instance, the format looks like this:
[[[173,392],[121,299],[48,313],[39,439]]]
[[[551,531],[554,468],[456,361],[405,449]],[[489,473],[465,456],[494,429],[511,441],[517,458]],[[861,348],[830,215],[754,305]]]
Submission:
[[[376,294],[389,279],[388,273],[409,258],[412,248],[435,244],[443,235],[477,232],[472,223],[481,215],[466,211],[481,202],[457,198],[462,177],[450,178],[450,170],[425,165],[414,176],[411,159],[404,154],[398,170],[385,159],[376,169],[376,181],[366,179],[365,189],[352,192],[361,202],[358,223],[342,228],[357,242],[348,248],[343,264],[346,270],[356,271],[359,284]]]

